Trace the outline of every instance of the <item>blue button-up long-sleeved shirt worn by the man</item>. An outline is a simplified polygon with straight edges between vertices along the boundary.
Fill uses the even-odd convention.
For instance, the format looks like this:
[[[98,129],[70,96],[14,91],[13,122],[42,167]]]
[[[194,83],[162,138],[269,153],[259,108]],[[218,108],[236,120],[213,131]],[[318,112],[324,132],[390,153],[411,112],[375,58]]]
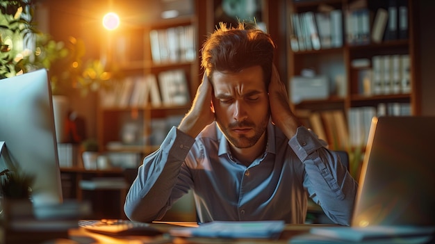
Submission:
[[[131,220],[150,222],[193,190],[201,222],[285,220],[304,223],[307,195],[340,225],[349,225],[356,182],[334,152],[310,130],[286,138],[268,125],[265,152],[249,166],[231,156],[216,124],[195,140],[173,127],[160,149],[145,157],[126,197]]]

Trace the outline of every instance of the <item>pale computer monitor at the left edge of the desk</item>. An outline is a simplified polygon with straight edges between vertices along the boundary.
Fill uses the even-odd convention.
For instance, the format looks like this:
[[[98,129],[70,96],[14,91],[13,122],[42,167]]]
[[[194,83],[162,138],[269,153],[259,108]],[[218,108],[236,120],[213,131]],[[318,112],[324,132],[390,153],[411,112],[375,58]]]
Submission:
[[[34,177],[33,206],[62,203],[47,70],[0,80],[1,141],[6,147],[0,152],[0,171],[19,168]]]

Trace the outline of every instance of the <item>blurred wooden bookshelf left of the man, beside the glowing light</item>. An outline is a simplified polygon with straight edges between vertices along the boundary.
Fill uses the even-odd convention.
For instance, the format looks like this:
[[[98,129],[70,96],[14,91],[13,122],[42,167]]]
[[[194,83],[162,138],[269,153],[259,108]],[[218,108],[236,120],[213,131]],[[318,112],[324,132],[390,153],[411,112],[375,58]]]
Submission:
[[[200,83],[199,43],[205,38],[198,21],[204,3],[165,3],[146,10],[179,10],[178,17],[150,18],[129,24],[107,38],[102,56],[117,65],[122,82],[102,90],[97,107],[101,152],[147,155],[158,148],[170,127],[187,113]],[[179,6],[165,6],[168,4]],[[182,6],[181,6],[182,5]],[[188,5],[188,6],[186,6]],[[154,13],[152,16],[156,15]],[[161,15],[159,15],[161,16]]]

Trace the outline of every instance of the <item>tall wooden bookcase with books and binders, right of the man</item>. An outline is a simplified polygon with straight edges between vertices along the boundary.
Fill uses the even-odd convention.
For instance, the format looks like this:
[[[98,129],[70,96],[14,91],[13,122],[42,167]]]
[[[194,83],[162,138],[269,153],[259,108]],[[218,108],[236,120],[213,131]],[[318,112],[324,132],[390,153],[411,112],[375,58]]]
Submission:
[[[332,149],[363,150],[372,116],[420,114],[413,1],[286,3],[291,106]],[[302,83],[301,76],[322,79]],[[331,111],[344,118],[332,120],[332,133]]]

